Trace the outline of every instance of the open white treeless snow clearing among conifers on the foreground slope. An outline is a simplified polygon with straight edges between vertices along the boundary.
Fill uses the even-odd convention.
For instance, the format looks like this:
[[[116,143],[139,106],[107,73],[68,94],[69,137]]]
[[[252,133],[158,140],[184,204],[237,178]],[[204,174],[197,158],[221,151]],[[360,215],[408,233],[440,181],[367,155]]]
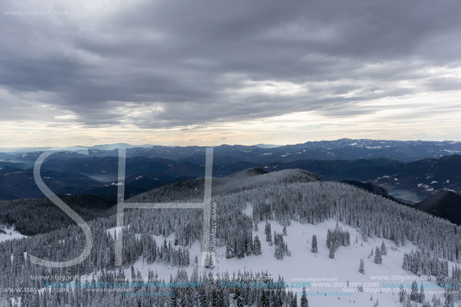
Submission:
[[[251,214],[251,204],[248,203],[248,207],[244,210],[244,213]],[[228,271],[232,274],[238,270],[243,272],[244,269],[247,271],[252,270],[253,273],[267,271],[273,276],[274,280],[277,280],[278,276],[281,275],[284,277],[285,282],[289,284],[289,288],[298,293],[298,300],[300,299],[303,283],[306,283],[305,285],[307,285],[307,291],[310,293],[308,294],[308,300],[310,306],[314,307],[373,306],[377,299],[379,301],[379,306],[400,306],[401,303],[399,302],[398,292],[393,294],[391,292],[385,292],[386,290],[383,291],[382,289],[386,288],[386,286],[383,286],[383,283],[403,283],[406,285],[411,284],[413,279],[416,277],[415,275],[402,269],[404,252],[408,253],[412,249],[418,249],[418,247],[409,241],[406,246],[392,250],[391,247],[396,247],[395,243],[384,239],[388,248],[388,254],[383,256],[382,264],[375,264],[374,257],[368,256],[370,255],[372,248],[375,249],[376,246],[381,246],[383,239],[369,238],[367,242],[363,242],[355,229],[340,224],[344,230],[349,231],[351,245],[347,247],[339,247],[339,249],[335,252],[335,258],[330,259],[328,257],[329,250],[326,246],[326,234],[328,229],[333,229],[336,226],[336,221],[329,220],[317,225],[303,225],[292,221],[291,225],[287,227],[288,236],[284,237],[284,240],[287,242],[288,248],[291,251],[291,257],[286,256],[283,260],[277,260],[274,257],[275,246],[269,246],[265,241],[264,224],[264,222],[259,223],[258,231],[253,231],[253,237],[257,234],[261,241],[262,255],[251,255],[241,259],[236,257],[226,259],[225,247],[219,247],[216,251],[217,262],[215,268],[212,270],[213,273],[224,273],[225,271]],[[272,234],[273,231],[282,233],[282,230],[283,227],[277,222],[271,222]],[[113,235],[115,228],[108,231]],[[314,234],[317,236],[318,240],[317,254],[311,252],[311,240],[312,235]],[[157,244],[160,244],[164,239],[161,236],[155,236],[154,238],[157,241]],[[174,236],[170,235],[166,239],[172,241],[173,238]],[[358,238],[358,243],[355,243],[356,238]],[[194,262],[195,256],[199,258],[199,263],[201,260],[202,253],[198,242],[195,242],[190,247],[190,254],[191,266],[185,268],[188,271],[189,276],[191,276],[193,272],[192,263]],[[358,272],[360,258],[364,259],[365,274]],[[451,265],[452,263],[449,263],[450,269]],[[177,270],[184,267],[172,266],[171,264],[162,265],[161,263],[147,264],[143,262],[142,259],[139,259],[135,262],[134,268],[138,269],[144,278],[147,277],[148,269],[151,269],[153,271],[157,271],[160,278],[168,281],[170,275],[174,277]],[[200,275],[203,271],[204,267],[199,266]],[[207,273],[208,272],[209,270],[207,269]],[[125,268],[125,276],[131,276],[129,267]],[[380,280],[372,279],[371,276],[394,277]],[[404,278],[404,280],[397,280],[396,278]],[[313,279],[317,279],[317,281]],[[422,280],[417,279],[416,281],[420,286]],[[308,282],[310,282],[310,287],[308,286]],[[315,282],[320,282],[321,284],[315,284]],[[350,283],[349,286],[346,286],[347,282]],[[328,285],[325,283],[330,284]],[[361,283],[363,285],[364,292],[356,292],[356,283]],[[441,289],[438,288],[433,281],[423,280],[423,283],[426,284],[427,287],[426,300],[430,300],[432,298],[433,294],[429,293],[429,291],[439,291],[440,294],[437,296],[441,298],[443,297]],[[344,288],[347,288],[348,290]],[[393,288],[394,287],[391,287],[391,289]],[[341,294],[344,292],[350,293],[351,291],[353,292],[350,296],[343,296],[344,294]],[[389,289],[387,291],[389,291]],[[410,289],[407,289],[407,291],[410,291]],[[319,294],[317,294],[317,292]],[[371,301],[372,296],[373,302]]]

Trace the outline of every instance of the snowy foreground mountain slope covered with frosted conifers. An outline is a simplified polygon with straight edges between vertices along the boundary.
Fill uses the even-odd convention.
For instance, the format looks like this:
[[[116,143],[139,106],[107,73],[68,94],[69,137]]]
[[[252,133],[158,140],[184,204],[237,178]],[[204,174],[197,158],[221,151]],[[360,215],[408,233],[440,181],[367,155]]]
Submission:
[[[203,201],[203,187],[203,179],[175,183],[126,202]],[[53,292],[45,298],[32,294],[22,296],[29,305],[43,299],[50,304],[54,300],[58,305],[69,306],[202,306],[200,296],[208,300],[207,306],[227,307],[238,285],[222,283],[226,281],[223,276],[251,271],[267,272],[274,281],[279,280],[279,275],[283,276],[286,288],[280,289],[284,293],[280,294],[283,302],[277,300],[274,291],[243,288],[242,295],[249,305],[291,307],[295,305],[291,293],[297,294],[297,303],[301,304],[301,291],[305,286],[311,307],[371,307],[376,305],[377,299],[379,306],[401,305],[399,284],[410,293],[409,284],[415,274],[421,278],[436,277],[435,280],[417,280],[418,287],[421,281],[426,285],[426,300],[432,297],[429,291],[437,291],[436,297],[442,302],[445,300],[444,289],[435,282],[461,283],[461,273],[456,267],[452,269],[452,265],[461,260],[460,227],[363,189],[338,182],[321,182],[314,174],[303,170],[264,173],[253,169],[214,180],[212,194],[211,225],[216,229],[217,245],[214,266],[210,267],[210,262],[200,265],[201,210],[134,209],[125,212],[123,267],[114,267],[115,216],[110,216],[89,222],[94,235],[93,250],[80,265],[65,271],[60,268],[45,271],[28,263],[22,253],[27,251],[51,260],[71,259],[84,246],[84,237],[77,227],[34,236],[21,244],[15,241],[0,244],[0,256],[11,257],[11,261],[0,260],[0,287],[41,285],[23,278],[29,275],[78,273],[91,276],[96,272],[95,280],[113,282],[115,274],[122,280],[126,276],[129,281],[133,274],[136,278],[148,278],[157,272],[158,278],[166,282],[200,280],[202,284],[194,289],[153,288],[147,284],[131,289],[133,296],[72,289],[73,296],[65,296],[67,301]],[[286,235],[282,235],[284,228]],[[311,252],[313,235],[317,240],[317,253]],[[383,242],[385,249],[381,249]],[[376,255],[370,256],[372,250]],[[419,253],[411,254],[408,260],[412,250]],[[361,259],[364,274],[359,272]],[[6,275],[12,271],[16,280]],[[357,292],[359,288],[363,292]],[[153,297],[150,293],[154,292],[175,293],[175,297]],[[224,296],[219,297],[218,292]],[[145,297],[146,294],[150,296]],[[459,300],[459,294],[453,294],[450,299]],[[413,297],[410,306],[415,300],[417,298]]]

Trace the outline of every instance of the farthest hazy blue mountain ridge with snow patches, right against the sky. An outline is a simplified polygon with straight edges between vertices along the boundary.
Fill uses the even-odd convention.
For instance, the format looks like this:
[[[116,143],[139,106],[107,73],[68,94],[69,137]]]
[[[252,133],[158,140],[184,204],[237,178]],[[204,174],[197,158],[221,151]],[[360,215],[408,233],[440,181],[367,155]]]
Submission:
[[[206,146],[151,146],[130,144],[108,144],[89,148],[90,156],[117,156],[116,147],[127,148],[128,157],[164,158],[170,160],[196,159],[205,160]],[[303,159],[313,160],[356,160],[387,158],[411,162],[425,158],[438,158],[444,155],[460,154],[461,142],[457,141],[392,141],[371,139],[339,139],[335,141],[315,141],[295,145],[271,147],[272,145],[220,145],[214,147],[215,155],[240,161],[282,161],[293,162]],[[24,156],[26,154],[26,156]],[[0,160],[10,162],[33,163],[38,152],[0,154]],[[63,156],[62,153],[56,154]],[[83,156],[83,155],[82,155]],[[58,158],[57,156],[53,156]],[[194,157],[194,158],[193,158]],[[61,157],[65,158],[65,157]],[[190,162],[196,162],[190,160]],[[203,163],[200,161],[200,163]],[[226,163],[226,161],[222,161]]]

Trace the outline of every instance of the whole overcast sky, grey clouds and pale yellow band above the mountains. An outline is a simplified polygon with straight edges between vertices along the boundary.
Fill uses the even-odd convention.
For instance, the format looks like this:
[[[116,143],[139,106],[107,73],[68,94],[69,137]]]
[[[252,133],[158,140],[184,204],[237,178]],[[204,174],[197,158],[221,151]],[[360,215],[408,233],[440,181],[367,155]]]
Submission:
[[[461,141],[459,1],[0,2],[0,147]]]

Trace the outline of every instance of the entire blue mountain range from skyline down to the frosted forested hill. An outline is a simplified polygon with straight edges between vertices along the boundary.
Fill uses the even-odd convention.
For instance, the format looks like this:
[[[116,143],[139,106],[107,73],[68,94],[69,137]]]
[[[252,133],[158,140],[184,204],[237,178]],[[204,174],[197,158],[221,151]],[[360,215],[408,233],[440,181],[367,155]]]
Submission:
[[[119,147],[127,148],[127,197],[205,173],[206,147],[119,143],[89,147],[88,155],[56,152],[42,165],[42,177],[58,194],[95,194],[114,200]],[[0,199],[43,196],[32,170],[42,152],[0,153]],[[323,181],[355,180],[358,186],[370,182],[375,186],[368,187],[372,192],[414,204],[439,191],[461,193],[459,152],[461,142],[455,141],[340,139],[285,146],[220,145],[214,147],[213,176],[252,167],[268,172],[300,168]]]

